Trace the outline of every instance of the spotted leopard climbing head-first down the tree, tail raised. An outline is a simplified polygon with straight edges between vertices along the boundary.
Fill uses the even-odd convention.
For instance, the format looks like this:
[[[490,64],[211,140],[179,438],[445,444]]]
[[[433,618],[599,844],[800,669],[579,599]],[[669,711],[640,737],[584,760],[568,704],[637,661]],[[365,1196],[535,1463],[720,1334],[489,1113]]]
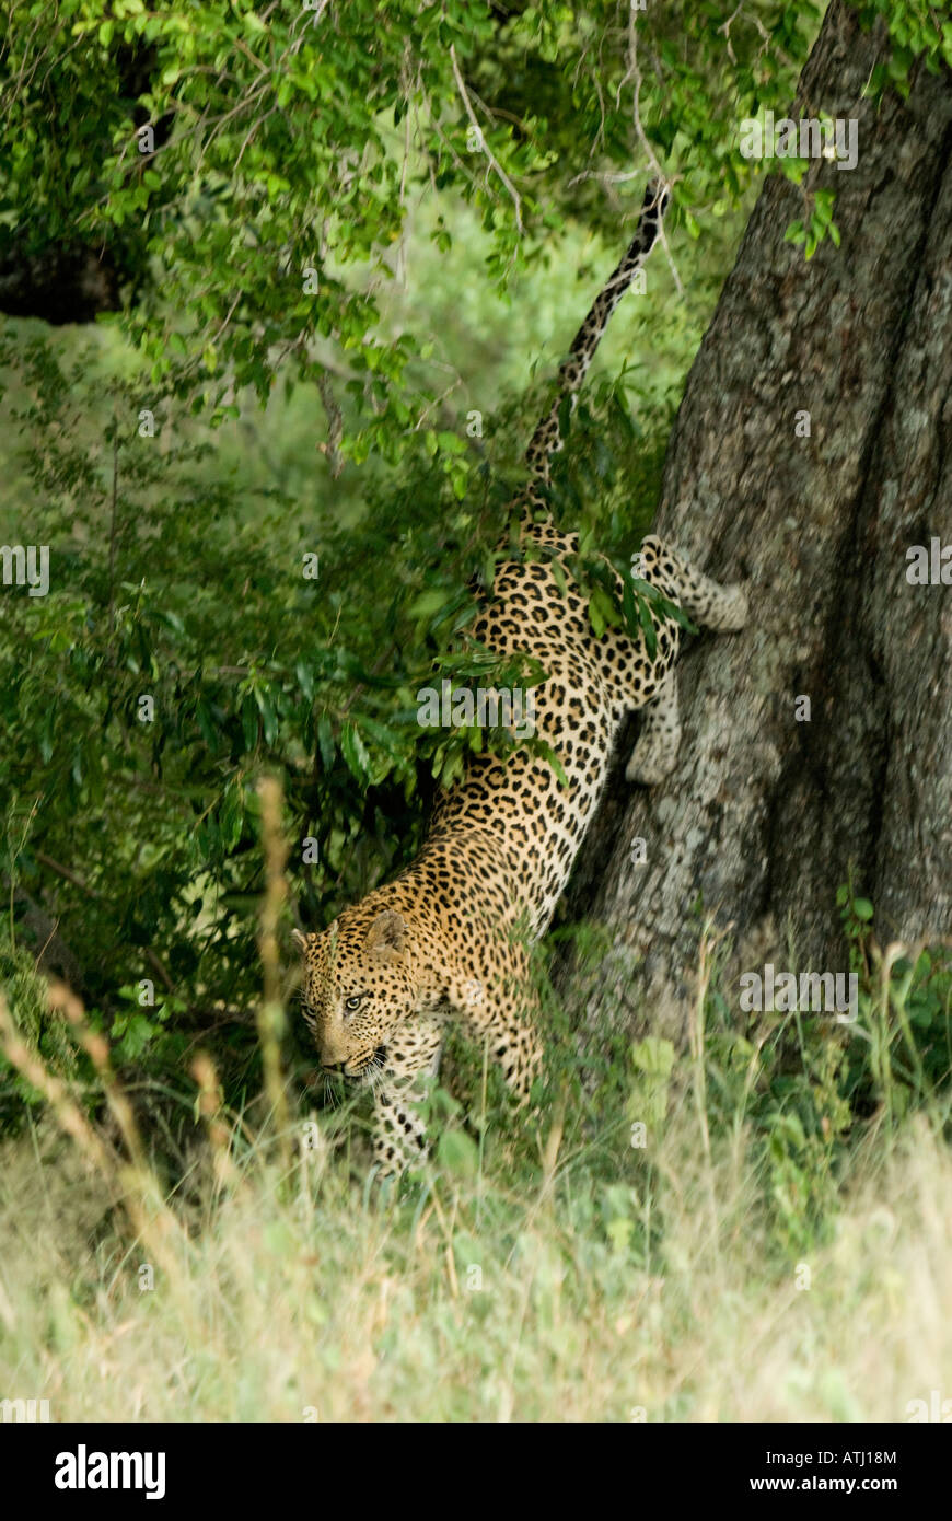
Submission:
[[[627,780],[658,785],[677,764],[681,738],[678,610],[719,633],[747,622],[742,583],[718,584],[649,534],[637,572],[655,589],[646,604],[654,637],[614,624],[596,634],[573,573],[579,534],[557,528],[551,514],[566,399],[578,402],[608,319],[658,240],[669,198],[666,184],[648,184],[634,237],[560,367],[555,397],[525,452],[528,479],[512,517],[519,552],[497,566],[470,628],[487,649],[532,657],[544,671],[532,689],[534,733],[558,765],[529,744],[471,753],[438,795],[415,859],[325,929],[295,931],[304,1024],[325,1072],[371,1088],[373,1165],[382,1177],[427,1154],[420,1095],[440,1071],[450,1027],[502,1069],[516,1112],[538,1112],[531,1106],[543,1010],[532,948],[569,881],[622,724],[640,713]],[[620,601],[622,575],[610,573]]]

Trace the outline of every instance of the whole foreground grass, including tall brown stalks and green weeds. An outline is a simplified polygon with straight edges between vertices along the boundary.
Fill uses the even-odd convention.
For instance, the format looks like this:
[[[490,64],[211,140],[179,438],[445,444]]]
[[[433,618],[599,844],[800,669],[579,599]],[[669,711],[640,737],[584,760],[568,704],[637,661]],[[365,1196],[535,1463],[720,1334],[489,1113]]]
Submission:
[[[435,1161],[377,1188],[359,1103],[306,1113],[281,1066],[280,799],[262,803],[255,1106],[231,1112],[201,1054],[172,1164],[68,990],[49,996],[85,1092],[0,995],[41,1100],[0,1148],[0,1398],[55,1421],[905,1421],[952,1401],[937,963],[862,940],[855,1028],[751,1031],[706,941],[689,1053],[620,1042],[587,1094],[563,1031],[532,1129],[452,1048]]]

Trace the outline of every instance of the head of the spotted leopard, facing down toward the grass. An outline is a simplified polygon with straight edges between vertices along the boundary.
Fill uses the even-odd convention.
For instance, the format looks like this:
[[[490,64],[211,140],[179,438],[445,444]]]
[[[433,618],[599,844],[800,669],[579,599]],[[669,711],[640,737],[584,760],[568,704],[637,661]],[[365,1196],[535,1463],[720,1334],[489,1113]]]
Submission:
[[[321,1066],[373,1077],[386,1042],[417,1007],[409,925],[394,908],[347,908],[327,929],[295,938],[304,958],[301,1008]]]

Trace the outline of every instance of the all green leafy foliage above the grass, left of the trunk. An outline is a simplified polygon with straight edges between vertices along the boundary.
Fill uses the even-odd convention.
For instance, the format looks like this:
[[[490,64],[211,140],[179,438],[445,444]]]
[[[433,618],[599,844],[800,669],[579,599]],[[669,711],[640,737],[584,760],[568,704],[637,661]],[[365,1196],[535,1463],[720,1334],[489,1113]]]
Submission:
[[[922,8],[890,17],[897,46],[938,46]],[[214,1028],[230,1092],[254,1080],[262,773],[310,928],[412,855],[468,750],[505,744],[421,732],[417,694],[531,680],[461,637],[543,409],[523,377],[564,351],[657,160],[674,269],[658,252],[616,318],[552,485],[595,627],[643,625],[646,589],[616,607],[601,557],[627,567],[648,525],[760,173],[738,122],[789,99],[818,18],[26,0],[0,20],[0,266],[96,246],[122,287],[88,344],[0,335],[0,537],[55,567],[44,598],[2,593],[3,890],[11,954],[43,949],[41,902],[120,1062],[161,1083]]]

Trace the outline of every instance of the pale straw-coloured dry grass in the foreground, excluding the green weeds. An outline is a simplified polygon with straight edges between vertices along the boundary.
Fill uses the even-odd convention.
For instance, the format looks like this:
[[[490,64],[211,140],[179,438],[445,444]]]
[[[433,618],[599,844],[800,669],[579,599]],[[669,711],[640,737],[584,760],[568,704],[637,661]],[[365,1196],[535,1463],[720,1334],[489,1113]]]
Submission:
[[[903,1421],[952,1396],[952,1159],[925,1121],[856,1159],[800,1264],[747,1139],[706,1157],[689,1094],[651,1170],[552,1151],[514,1180],[490,1147],[395,1200],[324,1130],[286,1170],[262,1138],[205,1153],[187,1205],[126,1177],[129,1224],[41,1127],[0,1167],[0,1393],[56,1421]]]

